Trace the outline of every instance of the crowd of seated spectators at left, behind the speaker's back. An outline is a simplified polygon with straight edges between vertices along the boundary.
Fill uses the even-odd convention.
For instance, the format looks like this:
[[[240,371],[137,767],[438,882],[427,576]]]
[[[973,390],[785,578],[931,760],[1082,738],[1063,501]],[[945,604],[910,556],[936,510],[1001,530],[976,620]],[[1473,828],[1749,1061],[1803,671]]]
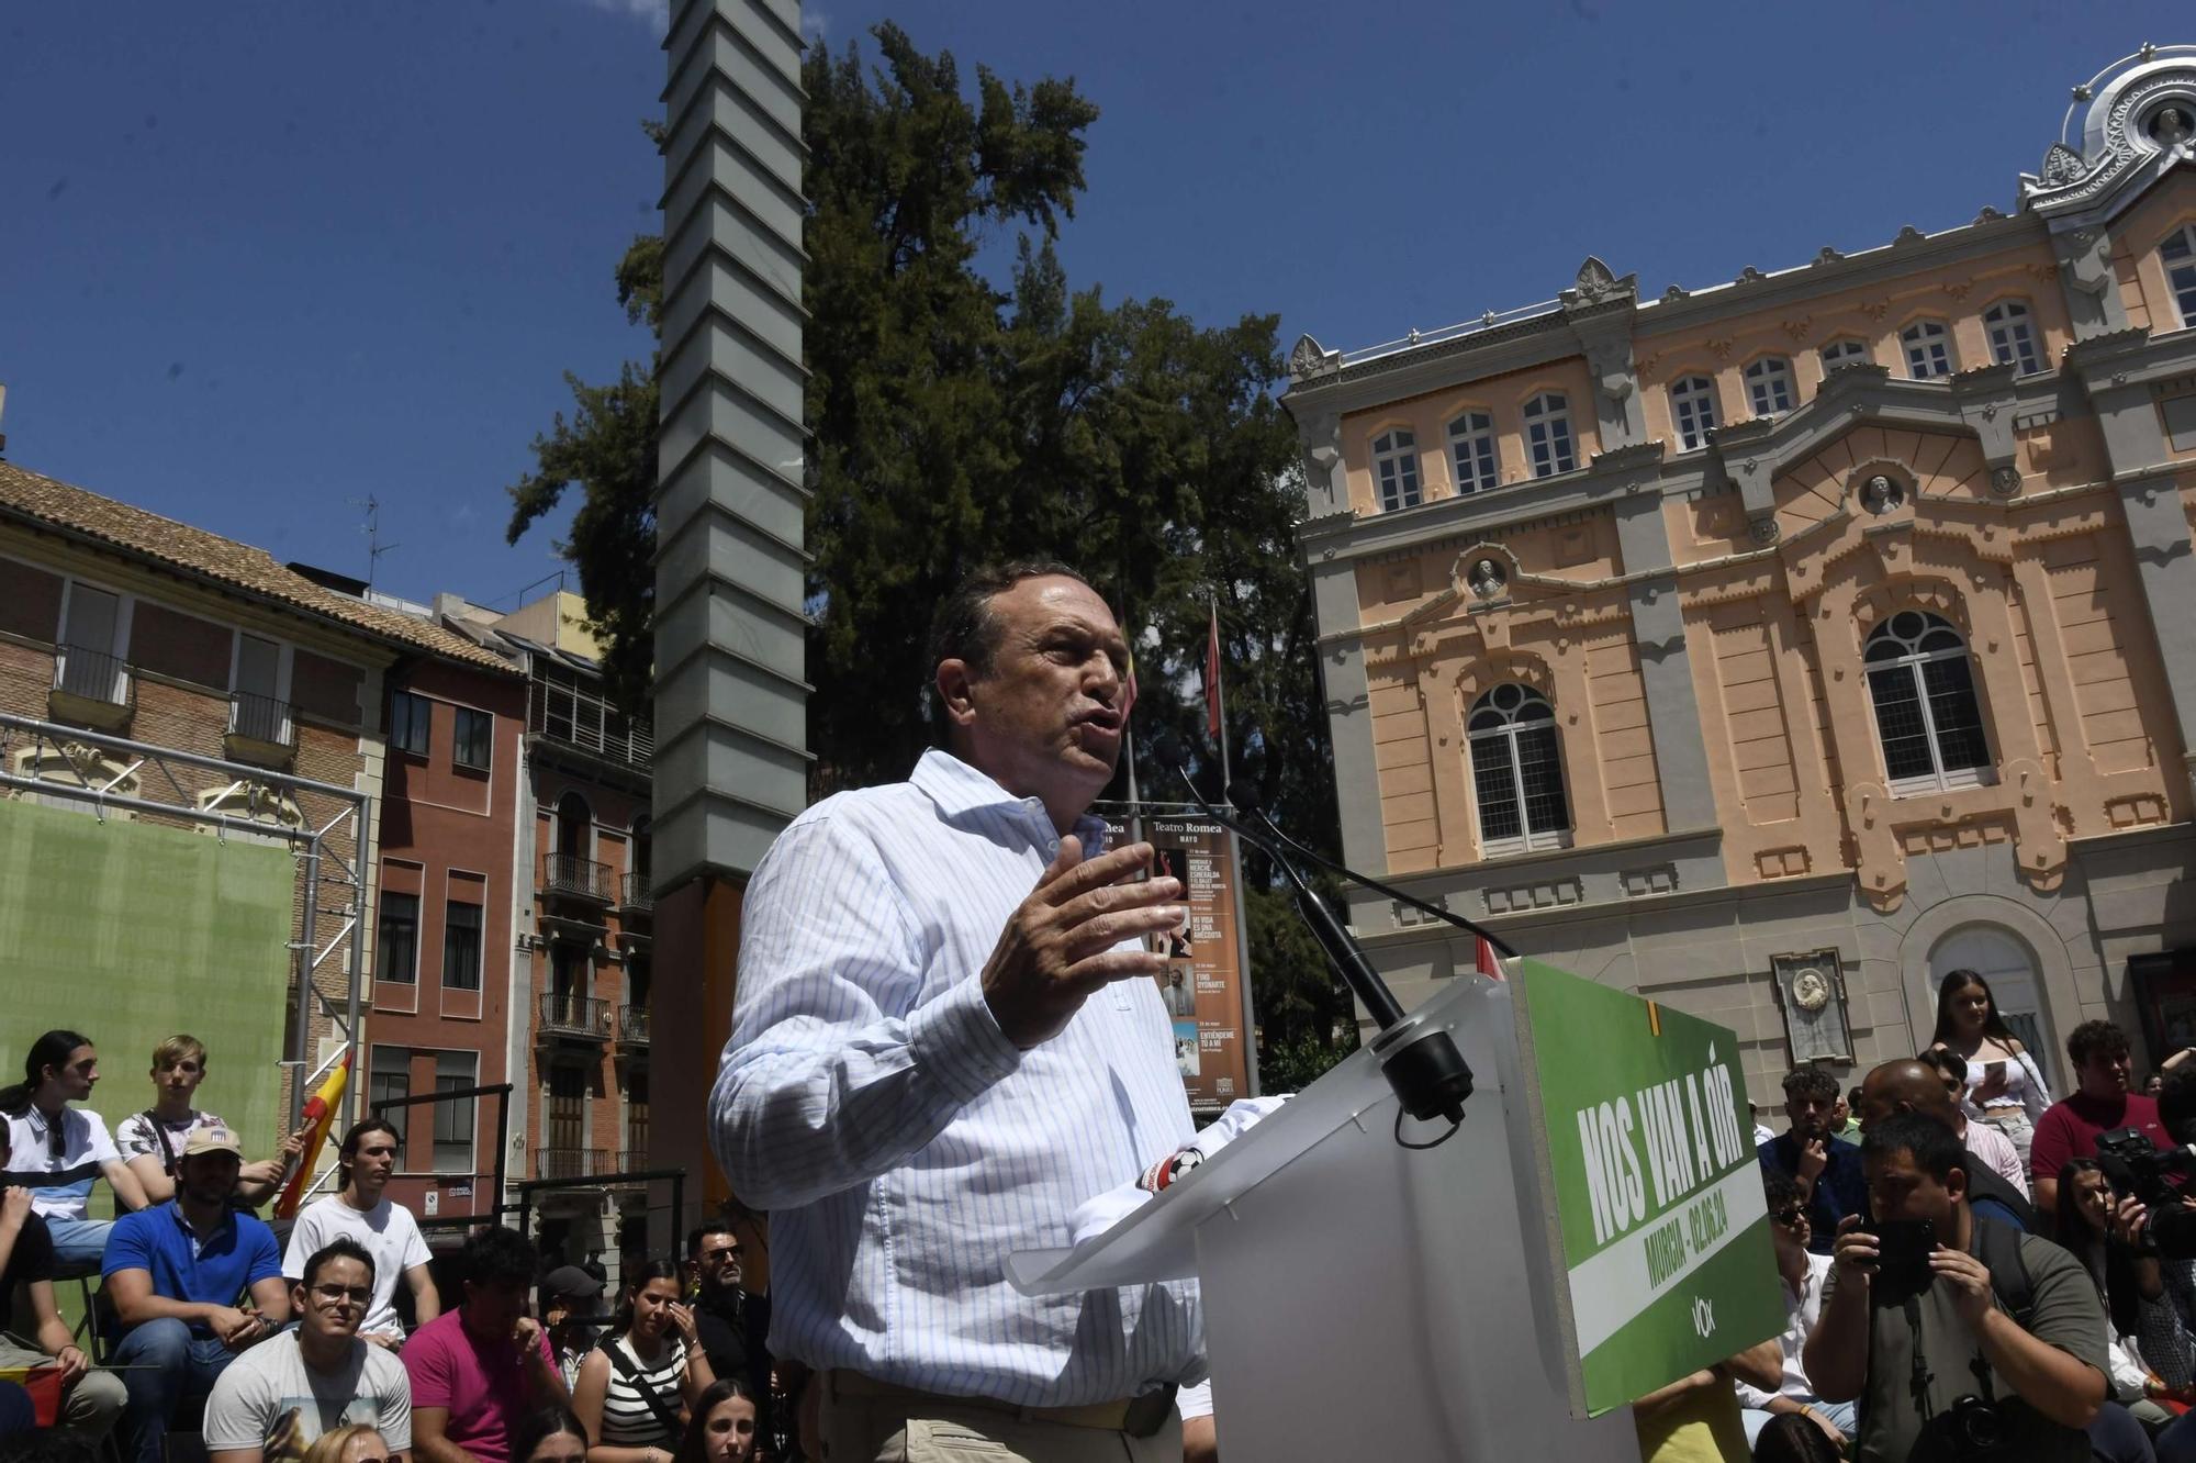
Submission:
[[[769,1298],[742,1289],[729,1224],[694,1228],[685,1261],[628,1257],[613,1316],[602,1278],[542,1274],[518,1230],[485,1224],[444,1309],[419,1226],[386,1193],[393,1125],[351,1125],[334,1193],[268,1224],[257,1206],[303,1133],[246,1162],[193,1107],[204,1074],[200,1041],[163,1041],[154,1105],[110,1138],[79,1105],[94,1046],[53,1030],[0,1092],[0,1371],[26,1377],[0,1382],[0,1452],[108,1443],[123,1463],[165,1463],[173,1432],[198,1432],[215,1463],[766,1456]],[[90,1217],[101,1180],[116,1219]],[[99,1358],[55,1298],[77,1276],[99,1281]]]

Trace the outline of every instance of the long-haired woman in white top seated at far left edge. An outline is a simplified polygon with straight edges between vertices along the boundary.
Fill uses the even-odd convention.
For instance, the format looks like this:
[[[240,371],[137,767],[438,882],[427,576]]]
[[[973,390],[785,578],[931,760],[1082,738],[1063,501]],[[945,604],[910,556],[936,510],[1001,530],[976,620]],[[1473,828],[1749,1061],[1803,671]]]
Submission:
[[[123,1210],[145,1208],[145,1188],[123,1162],[105,1120],[90,1107],[99,1052],[72,1030],[48,1030],[22,1059],[22,1083],[0,1092],[9,1123],[9,1171],[51,1173],[31,1206],[53,1232],[53,1259],[70,1274],[97,1270],[112,1219],[92,1219],[92,1182],[105,1177]]]

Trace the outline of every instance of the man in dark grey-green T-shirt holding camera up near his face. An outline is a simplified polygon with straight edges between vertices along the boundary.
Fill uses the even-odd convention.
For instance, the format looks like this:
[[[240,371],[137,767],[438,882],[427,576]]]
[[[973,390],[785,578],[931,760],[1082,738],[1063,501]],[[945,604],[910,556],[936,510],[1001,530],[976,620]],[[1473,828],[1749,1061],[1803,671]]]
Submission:
[[[1937,1248],[1919,1276],[1880,1274],[1878,1237],[1858,1215],[1840,1224],[1805,1366],[1823,1397],[1862,1399],[1858,1456],[1954,1456],[1952,1406],[1983,1393],[2007,1441],[1994,1456],[2086,1456],[2106,1395],[2095,1285],[2058,1246],[1974,1217],[1972,1160],[1948,1125],[1917,1112],[1864,1123],[1875,1219],[1926,1219]]]

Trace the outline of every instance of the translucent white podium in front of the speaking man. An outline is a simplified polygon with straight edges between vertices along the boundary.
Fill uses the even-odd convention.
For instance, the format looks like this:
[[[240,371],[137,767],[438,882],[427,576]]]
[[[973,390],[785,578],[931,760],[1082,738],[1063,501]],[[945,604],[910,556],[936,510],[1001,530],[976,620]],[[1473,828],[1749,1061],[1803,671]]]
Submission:
[[[1629,1408],[1572,1417],[1511,991],[1460,975],[1423,1010],[1476,1079],[1438,1149],[1394,1142],[1397,1098],[1359,1050],[1105,1235],[1012,1254],[1008,1276],[1030,1294],[1199,1278],[1232,1463],[1638,1463]]]

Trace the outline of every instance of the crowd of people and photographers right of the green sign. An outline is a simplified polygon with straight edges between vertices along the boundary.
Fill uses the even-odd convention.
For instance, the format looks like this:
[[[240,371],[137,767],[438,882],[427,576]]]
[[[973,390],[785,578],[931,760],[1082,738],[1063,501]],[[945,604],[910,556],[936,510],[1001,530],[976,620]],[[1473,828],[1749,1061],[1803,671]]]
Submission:
[[[1643,1399],[1643,1459],[2196,1459],[2189,1204],[2141,1158],[2196,1140],[2192,1057],[2132,1092],[2126,1032],[2084,1021],[2053,1101],[1990,984],[1954,971],[1917,1057],[1847,1094],[1788,1074],[1783,1131],[1755,1133],[1774,1375],[1768,1349],[1726,1360],[1684,1426]]]

